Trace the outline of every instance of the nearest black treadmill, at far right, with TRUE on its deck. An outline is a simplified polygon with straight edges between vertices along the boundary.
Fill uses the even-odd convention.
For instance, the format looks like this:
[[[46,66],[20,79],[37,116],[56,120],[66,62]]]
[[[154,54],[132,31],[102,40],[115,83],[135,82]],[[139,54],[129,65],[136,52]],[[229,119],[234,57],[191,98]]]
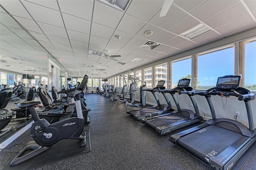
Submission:
[[[169,140],[211,168],[230,170],[234,167],[237,160],[256,140],[256,130],[254,129],[250,105],[250,101],[254,99],[254,94],[239,87],[239,83],[240,76],[218,77],[216,87],[192,94],[206,97],[212,119],[197,127],[174,134],[170,136]],[[235,120],[216,119],[211,95],[235,96],[238,97],[239,101],[244,101],[249,128]]]

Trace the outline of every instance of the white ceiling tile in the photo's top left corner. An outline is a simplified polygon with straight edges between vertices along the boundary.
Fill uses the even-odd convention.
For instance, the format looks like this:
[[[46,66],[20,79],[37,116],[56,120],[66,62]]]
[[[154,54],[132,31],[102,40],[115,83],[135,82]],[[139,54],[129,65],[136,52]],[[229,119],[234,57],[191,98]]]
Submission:
[[[28,12],[24,9],[20,1],[16,0],[2,0],[1,5],[6,9],[11,15],[20,16],[22,18],[27,18],[32,20]]]

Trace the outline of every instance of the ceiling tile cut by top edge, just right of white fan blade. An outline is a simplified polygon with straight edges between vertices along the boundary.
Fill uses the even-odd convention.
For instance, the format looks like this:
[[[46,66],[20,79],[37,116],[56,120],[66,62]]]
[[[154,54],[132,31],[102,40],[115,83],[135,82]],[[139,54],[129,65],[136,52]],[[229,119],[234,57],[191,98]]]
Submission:
[[[175,0],[173,3],[186,12],[190,12],[204,1],[205,0]]]

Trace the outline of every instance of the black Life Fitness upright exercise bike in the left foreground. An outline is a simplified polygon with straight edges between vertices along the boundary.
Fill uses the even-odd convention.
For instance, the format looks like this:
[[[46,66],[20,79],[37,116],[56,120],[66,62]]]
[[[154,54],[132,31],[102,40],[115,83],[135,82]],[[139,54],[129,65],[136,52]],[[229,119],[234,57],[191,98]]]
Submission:
[[[86,133],[84,132],[84,117],[82,114],[82,107],[80,103],[80,93],[84,91],[88,82],[88,76],[85,75],[84,79],[80,83],[77,89],[68,89],[66,92],[74,93],[74,100],[76,105],[77,117],[71,117],[56,123],[48,123],[45,119],[39,119],[38,114],[34,108],[34,105],[40,104],[40,101],[26,101],[19,103],[21,108],[27,107],[34,119],[34,123],[30,128],[31,137],[35,143],[28,143],[27,146],[21,150],[18,155],[12,160],[10,166],[14,166],[34,157],[41,152],[44,152],[50,148],[53,144],[56,144],[62,139],[79,139],[81,140],[80,146],[86,146]],[[27,150],[33,150],[29,153]]]

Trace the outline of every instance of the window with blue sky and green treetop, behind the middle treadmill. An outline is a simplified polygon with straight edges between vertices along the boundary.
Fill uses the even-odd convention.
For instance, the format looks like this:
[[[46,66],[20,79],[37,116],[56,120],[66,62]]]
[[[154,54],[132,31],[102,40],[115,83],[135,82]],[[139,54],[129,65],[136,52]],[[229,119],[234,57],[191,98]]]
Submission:
[[[171,89],[177,87],[180,79],[191,79],[192,71],[192,59],[191,57],[184,57],[182,60],[173,61],[170,66],[172,75],[172,86]],[[191,84],[191,82],[190,82]]]

